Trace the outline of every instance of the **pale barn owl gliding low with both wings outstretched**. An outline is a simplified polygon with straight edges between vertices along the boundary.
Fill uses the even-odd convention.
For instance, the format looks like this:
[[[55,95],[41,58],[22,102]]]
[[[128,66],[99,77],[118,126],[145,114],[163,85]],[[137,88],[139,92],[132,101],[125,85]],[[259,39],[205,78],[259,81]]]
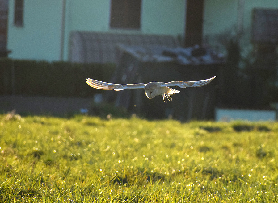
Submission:
[[[91,78],[87,78],[86,83],[96,89],[114,89],[116,91],[120,91],[123,89],[144,88],[146,96],[149,99],[152,99],[155,96],[161,95],[163,97],[163,101],[167,102],[167,99],[169,101],[172,101],[172,98],[170,97],[171,94],[179,93],[179,90],[170,88],[171,86],[178,86],[181,88],[201,87],[201,86],[204,86],[204,85],[207,85],[208,83],[210,83],[215,77],[216,76],[209,78],[207,80],[198,80],[198,81],[189,81],[189,82],[183,82],[183,81],[172,81],[172,82],[167,82],[167,83],[149,82],[148,84],[137,83],[137,84],[127,84],[127,85],[107,83],[107,82],[102,82],[102,81],[98,81],[98,80],[93,80]]]

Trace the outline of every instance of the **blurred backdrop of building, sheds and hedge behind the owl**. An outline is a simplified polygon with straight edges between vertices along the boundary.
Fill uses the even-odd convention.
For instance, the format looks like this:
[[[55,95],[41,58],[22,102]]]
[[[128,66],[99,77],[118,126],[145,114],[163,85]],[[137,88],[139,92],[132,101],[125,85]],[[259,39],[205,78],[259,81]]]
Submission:
[[[0,0],[0,113],[277,120],[277,45],[277,0]],[[168,103],[85,83],[213,76]]]

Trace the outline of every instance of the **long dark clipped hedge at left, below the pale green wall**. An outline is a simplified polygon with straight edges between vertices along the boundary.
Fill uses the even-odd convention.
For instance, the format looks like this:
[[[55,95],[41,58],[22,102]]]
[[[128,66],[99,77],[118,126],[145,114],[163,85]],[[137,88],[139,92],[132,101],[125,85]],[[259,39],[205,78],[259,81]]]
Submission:
[[[98,90],[86,78],[110,81],[114,69],[114,64],[1,59],[0,95],[91,97]]]

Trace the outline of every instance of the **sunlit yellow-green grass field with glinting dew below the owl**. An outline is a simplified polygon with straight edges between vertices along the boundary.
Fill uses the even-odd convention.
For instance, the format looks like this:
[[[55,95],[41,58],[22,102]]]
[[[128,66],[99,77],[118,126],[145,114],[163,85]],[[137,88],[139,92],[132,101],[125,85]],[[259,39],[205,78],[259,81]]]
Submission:
[[[278,202],[277,122],[0,115],[2,202]]]

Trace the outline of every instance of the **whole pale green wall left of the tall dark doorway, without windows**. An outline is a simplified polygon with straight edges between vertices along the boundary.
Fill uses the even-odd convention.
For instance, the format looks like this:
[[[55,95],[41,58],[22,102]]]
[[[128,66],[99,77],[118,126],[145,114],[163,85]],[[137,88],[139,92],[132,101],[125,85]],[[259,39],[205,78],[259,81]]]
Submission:
[[[62,0],[25,0],[24,25],[16,27],[9,0],[9,55],[17,59],[60,60]],[[66,0],[64,60],[71,31],[184,35],[186,0],[142,0],[141,29],[110,29],[110,0]]]

